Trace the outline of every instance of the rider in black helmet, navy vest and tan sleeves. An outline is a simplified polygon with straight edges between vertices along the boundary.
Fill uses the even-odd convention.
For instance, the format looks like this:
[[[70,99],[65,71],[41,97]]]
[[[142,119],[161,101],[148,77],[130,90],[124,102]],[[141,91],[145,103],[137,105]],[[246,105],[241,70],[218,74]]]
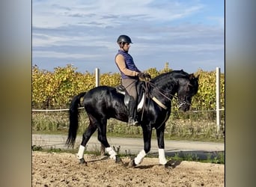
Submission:
[[[120,47],[118,50],[118,54],[115,55],[115,63],[118,66],[118,69],[121,72],[121,85],[127,90],[129,93],[129,125],[138,125],[137,120],[137,89],[136,85],[138,82],[138,78],[141,79],[151,79],[151,76],[147,73],[142,73],[135,66],[132,56],[129,55],[129,44],[132,43],[132,40],[127,35],[120,35],[118,37],[117,43]]]

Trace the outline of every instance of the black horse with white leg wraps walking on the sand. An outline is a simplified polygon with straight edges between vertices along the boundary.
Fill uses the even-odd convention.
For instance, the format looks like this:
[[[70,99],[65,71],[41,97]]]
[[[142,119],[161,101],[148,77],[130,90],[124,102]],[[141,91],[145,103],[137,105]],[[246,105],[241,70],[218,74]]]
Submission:
[[[138,122],[143,129],[144,149],[141,150],[129,166],[141,163],[142,159],[150,151],[152,129],[156,129],[157,143],[159,147],[159,164],[165,165],[165,122],[171,114],[171,99],[176,98],[178,107],[188,111],[192,96],[198,92],[198,77],[183,70],[174,70],[156,76],[150,81],[141,81],[138,91],[143,90],[144,96],[140,96],[144,106],[138,111]],[[142,88],[142,89],[141,89]],[[144,88],[144,89],[143,89]],[[175,95],[177,93],[177,96]],[[116,162],[121,159],[115,150],[110,147],[106,138],[107,120],[115,118],[124,122],[128,121],[128,110],[125,105],[125,96],[117,88],[99,86],[88,92],[79,93],[74,96],[70,104],[70,128],[66,144],[73,146],[76,140],[76,132],[79,126],[79,105],[83,97],[83,106],[88,114],[90,124],[82,135],[82,143],[76,154],[80,163],[85,163],[84,151],[91,135],[98,129],[98,140],[106,147],[111,159]]]

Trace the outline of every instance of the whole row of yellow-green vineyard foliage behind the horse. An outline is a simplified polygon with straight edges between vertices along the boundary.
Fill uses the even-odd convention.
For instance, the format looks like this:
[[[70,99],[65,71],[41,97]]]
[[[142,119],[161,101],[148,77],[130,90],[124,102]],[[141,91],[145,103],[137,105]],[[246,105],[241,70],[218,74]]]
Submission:
[[[168,63],[163,70],[150,68],[145,72],[152,78],[161,73],[169,72]],[[216,108],[216,72],[198,70],[199,75],[198,94],[192,99],[192,108],[195,110],[214,110]],[[103,73],[100,75],[100,85],[115,87],[120,85],[120,73]],[[95,87],[94,73],[79,73],[76,68],[68,64],[67,67],[56,67],[54,72],[39,70],[32,67],[32,106],[33,108],[67,108],[70,99],[82,91],[88,91]],[[225,106],[225,77],[221,74],[221,106]],[[176,101],[173,100],[173,105]],[[174,108],[173,111],[177,111]]]

